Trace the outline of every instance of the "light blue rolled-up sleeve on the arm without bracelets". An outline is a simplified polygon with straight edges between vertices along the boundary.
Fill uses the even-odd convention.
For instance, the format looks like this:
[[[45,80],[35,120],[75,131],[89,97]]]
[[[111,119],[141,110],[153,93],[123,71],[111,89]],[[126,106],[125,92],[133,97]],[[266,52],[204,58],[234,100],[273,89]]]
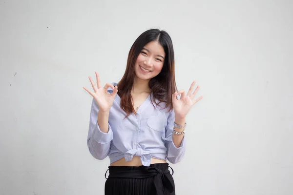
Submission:
[[[111,141],[113,139],[113,132],[109,123],[108,133],[104,133],[100,130],[97,121],[98,112],[98,104],[93,98],[90,111],[87,146],[92,156],[99,160],[103,160],[109,154]]]

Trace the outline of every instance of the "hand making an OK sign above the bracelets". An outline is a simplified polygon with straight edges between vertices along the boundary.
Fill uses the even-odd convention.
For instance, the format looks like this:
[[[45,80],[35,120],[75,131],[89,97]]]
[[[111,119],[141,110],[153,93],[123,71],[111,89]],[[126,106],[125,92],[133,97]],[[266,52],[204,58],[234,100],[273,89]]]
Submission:
[[[172,102],[173,102],[173,108],[174,108],[174,112],[175,112],[175,116],[179,117],[179,118],[184,118],[186,117],[186,115],[188,114],[189,110],[191,109],[191,107],[198,102],[199,100],[201,100],[203,97],[199,97],[195,100],[194,97],[196,95],[196,93],[199,90],[199,86],[196,87],[196,89],[193,91],[193,87],[195,85],[195,81],[192,82],[187,95],[185,95],[185,91],[184,90],[180,90],[178,92],[175,92],[172,95]],[[192,94],[191,94],[192,93]],[[177,99],[176,96],[180,95],[181,97],[180,99]]]

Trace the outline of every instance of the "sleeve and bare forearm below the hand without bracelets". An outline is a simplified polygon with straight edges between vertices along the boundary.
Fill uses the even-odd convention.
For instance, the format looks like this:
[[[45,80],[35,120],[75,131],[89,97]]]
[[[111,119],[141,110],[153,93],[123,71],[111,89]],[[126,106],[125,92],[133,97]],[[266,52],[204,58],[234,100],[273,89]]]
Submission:
[[[93,98],[89,129],[87,136],[87,146],[92,156],[99,160],[103,160],[110,151],[113,132],[108,123],[109,112],[99,111],[99,107]]]

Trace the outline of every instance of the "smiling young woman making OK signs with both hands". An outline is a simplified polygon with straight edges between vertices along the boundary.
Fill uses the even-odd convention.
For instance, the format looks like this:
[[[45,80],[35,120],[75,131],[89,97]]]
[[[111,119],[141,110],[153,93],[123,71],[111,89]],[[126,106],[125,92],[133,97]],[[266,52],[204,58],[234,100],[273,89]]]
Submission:
[[[175,195],[167,160],[184,156],[185,118],[202,97],[194,99],[195,81],[187,94],[177,91],[170,36],[158,29],[141,34],[118,83],[102,87],[95,73],[94,92],[84,87],[93,97],[87,145],[95,158],[110,158],[105,195]]]

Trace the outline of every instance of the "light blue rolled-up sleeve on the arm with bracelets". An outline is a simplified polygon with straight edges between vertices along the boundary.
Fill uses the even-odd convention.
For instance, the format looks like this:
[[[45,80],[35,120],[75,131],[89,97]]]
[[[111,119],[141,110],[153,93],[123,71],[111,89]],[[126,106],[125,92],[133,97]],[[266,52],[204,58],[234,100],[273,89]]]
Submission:
[[[183,137],[180,147],[176,147],[173,142],[173,128],[174,128],[175,114],[174,110],[171,110],[167,118],[167,126],[165,129],[166,147],[167,147],[167,160],[175,164],[179,162],[185,154],[185,137]]]

